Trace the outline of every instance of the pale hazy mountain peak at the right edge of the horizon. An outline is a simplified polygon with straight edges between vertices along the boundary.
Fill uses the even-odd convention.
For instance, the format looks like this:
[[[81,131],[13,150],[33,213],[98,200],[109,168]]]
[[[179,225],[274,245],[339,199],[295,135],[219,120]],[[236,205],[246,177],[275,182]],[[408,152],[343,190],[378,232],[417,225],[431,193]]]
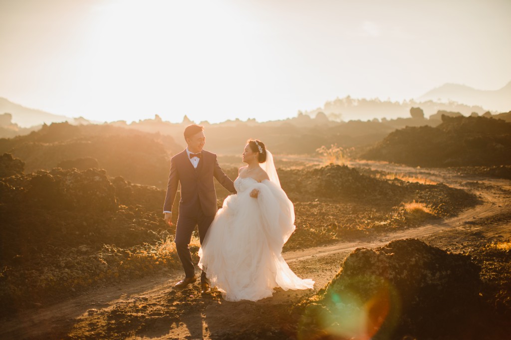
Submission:
[[[444,84],[423,94],[417,101],[454,101],[467,105],[480,105],[488,110],[511,110],[511,82],[499,90],[478,90],[465,85]]]

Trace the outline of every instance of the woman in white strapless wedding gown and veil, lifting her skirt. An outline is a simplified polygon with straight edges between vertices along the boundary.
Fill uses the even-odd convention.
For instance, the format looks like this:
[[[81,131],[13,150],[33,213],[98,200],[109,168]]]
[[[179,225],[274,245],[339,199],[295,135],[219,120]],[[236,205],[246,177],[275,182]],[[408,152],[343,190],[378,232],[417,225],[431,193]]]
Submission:
[[[271,297],[274,287],[312,288],[314,281],[297,277],[282,257],[295,229],[294,207],[271,153],[262,141],[248,140],[243,162],[238,193],[225,199],[199,249],[200,268],[228,301]]]

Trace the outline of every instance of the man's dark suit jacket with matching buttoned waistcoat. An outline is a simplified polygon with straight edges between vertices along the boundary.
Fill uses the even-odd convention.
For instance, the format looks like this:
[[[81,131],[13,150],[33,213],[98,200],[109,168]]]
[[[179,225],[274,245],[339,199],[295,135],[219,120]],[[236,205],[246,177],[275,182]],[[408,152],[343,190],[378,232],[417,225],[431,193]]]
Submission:
[[[202,150],[199,164],[197,168],[194,168],[186,149],[178,153],[171,159],[169,184],[163,210],[172,211],[177,185],[180,182],[179,214],[195,216],[202,209],[206,216],[215,215],[217,212],[217,194],[213,178],[216,178],[230,192],[236,193],[233,181],[225,175],[220,165],[218,165],[216,154]]]

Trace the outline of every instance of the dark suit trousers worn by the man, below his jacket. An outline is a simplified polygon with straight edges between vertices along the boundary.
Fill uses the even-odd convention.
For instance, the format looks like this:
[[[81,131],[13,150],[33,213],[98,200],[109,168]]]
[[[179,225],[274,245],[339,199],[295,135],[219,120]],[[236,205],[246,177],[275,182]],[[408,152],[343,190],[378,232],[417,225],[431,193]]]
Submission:
[[[190,241],[195,226],[199,227],[199,240],[200,244],[206,236],[207,230],[210,228],[215,216],[205,216],[202,210],[196,216],[182,216],[177,218],[176,225],[176,250],[179,260],[183,264],[184,275],[186,277],[193,277],[195,275],[195,267],[192,262],[192,254],[190,253]],[[207,282],[206,273],[202,272],[201,280]]]

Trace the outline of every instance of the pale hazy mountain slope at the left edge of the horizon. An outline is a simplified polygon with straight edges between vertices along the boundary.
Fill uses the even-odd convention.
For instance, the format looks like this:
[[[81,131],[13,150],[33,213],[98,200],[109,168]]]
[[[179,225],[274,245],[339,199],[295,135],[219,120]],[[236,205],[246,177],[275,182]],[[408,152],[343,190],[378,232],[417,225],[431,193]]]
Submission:
[[[5,98],[0,98],[0,114],[10,113],[12,123],[22,128],[29,128],[36,125],[67,122],[71,124],[85,124],[87,121],[83,118],[72,118],[53,113],[44,112],[36,109],[29,109],[16,103],[12,103]],[[76,120],[76,121],[75,121]]]

